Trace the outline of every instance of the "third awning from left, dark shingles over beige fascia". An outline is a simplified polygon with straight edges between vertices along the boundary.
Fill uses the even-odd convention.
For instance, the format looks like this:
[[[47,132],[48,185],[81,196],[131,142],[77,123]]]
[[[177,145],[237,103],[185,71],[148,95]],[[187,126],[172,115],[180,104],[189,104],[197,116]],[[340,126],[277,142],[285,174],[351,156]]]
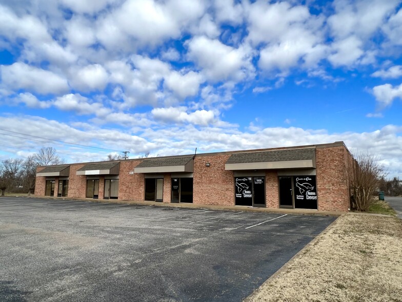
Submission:
[[[150,158],[145,159],[134,168],[134,173],[173,172],[194,172],[193,157]]]

